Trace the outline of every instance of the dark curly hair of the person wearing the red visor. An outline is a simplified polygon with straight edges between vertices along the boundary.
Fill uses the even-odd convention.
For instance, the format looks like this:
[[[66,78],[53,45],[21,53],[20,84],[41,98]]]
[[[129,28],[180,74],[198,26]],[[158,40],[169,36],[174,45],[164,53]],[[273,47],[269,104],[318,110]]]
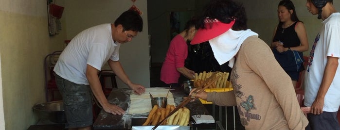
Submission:
[[[199,27],[204,27],[204,19],[210,17],[218,19],[222,23],[230,23],[233,19],[235,23],[233,30],[247,30],[247,16],[244,6],[233,0],[211,0],[205,7],[199,20]]]

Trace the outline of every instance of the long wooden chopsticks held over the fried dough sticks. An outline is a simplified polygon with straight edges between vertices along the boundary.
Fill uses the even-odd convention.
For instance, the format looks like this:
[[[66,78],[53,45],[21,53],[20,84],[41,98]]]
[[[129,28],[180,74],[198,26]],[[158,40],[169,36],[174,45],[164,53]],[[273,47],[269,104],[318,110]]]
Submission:
[[[205,80],[199,87],[197,87],[197,89],[192,92],[191,95],[189,95],[186,99],[184,99],[173,111],[171,111],[167,116],[165,116],[165,118],[163,120],[161,120],[160,122],[158,122],[155,127],[153,127],[151,130],[155,130],[158,126],[160,126],[167,118],[169,118],[172,114],[174,114],[175,112],[177,112],[180,108],[182,108],[185,104],[187,104],[188,102],[190,102],[191,100],[196,99],[196,94],[197,93],[201,93],[202,91],[204,91],[204,89],[206,89],[208,86],[212,85],[215,81],[218,80],[218,78],[220,76],[216,76],[217,72],[214,72],[207,80]],[[212,80],[213,79],[213,80]],[[209,84],[205,85],[208,81]],[[203,87],[203,88],[202,88]],[[198,92],[197,92],[198,91]]]

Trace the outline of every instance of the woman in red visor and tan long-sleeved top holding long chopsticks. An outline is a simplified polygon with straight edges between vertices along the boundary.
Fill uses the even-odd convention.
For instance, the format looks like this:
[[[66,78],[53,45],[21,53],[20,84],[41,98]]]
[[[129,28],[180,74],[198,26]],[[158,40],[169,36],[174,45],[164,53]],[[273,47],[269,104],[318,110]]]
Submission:
[[[233,91],[193,95],[219,106],[237,106],[246,130],[304,130],[308,120],[292,81],[269,46],[247,28],[243,5],[211,0],[201,22],[191,44],[209,41],[218,63],[229,61]]]

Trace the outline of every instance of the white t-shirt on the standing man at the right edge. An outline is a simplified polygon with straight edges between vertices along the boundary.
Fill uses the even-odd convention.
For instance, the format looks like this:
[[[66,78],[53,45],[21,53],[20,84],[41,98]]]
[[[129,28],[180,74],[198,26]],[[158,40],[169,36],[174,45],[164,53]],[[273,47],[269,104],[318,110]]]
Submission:
[[[305,73],[304,105],[313,104],[320,88],[327,56],[340,57],[340,13],[333,13],[322,21],[321,31],[314,40]],[[340,63],[340,60],[338,60]],[[340,106],[340,65],[324,97],[323,111],[337,112]]]

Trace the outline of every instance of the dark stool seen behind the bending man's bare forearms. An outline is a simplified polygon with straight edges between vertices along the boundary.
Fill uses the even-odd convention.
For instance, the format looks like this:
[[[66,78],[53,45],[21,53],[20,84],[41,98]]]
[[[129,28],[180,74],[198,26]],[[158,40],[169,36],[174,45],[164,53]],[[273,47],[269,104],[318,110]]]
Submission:
[[[109,78],[111,80],[111,87],[106,86],[106,81]],[[102,85],[104,95],[107,97],[113,88],[118,88],[116,81],[116,74],[112,70],[102,70],[99,72],[99,81]]]

